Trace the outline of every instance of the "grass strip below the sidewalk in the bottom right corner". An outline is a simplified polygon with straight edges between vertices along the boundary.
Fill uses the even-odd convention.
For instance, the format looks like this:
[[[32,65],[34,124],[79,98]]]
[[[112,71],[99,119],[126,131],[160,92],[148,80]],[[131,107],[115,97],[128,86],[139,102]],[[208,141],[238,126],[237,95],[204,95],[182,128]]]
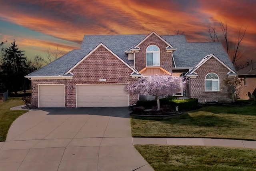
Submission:
[[[134,145],[155,171],[252,171],[256,149]]]

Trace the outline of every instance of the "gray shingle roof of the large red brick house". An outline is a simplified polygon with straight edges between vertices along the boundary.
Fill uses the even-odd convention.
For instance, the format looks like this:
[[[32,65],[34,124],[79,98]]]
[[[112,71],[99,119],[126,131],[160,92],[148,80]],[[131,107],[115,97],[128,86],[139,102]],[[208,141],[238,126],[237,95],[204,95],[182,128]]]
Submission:
[[[147,35],[85,35],[80,50],[72,50],[39,70],[27,76],[59,76],[65,74],[77,64],[84,56],[98,44],[103,43],[124,62],[133,65],[133,60],[128,60],[125,51],[142,41]],[[220,42],[187,42],[184,35],[161,36],[169,44],[177,48],[173,52],[177,68],[194,68],[208,54],[214,54],[227,66],[235,71],[228,55]]]

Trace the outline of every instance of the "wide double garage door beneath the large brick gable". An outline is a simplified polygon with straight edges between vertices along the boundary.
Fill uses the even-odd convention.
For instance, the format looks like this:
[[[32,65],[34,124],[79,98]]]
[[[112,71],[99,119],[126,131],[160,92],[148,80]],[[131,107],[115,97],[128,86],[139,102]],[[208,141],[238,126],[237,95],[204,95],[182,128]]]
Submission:
[[[77,107],[128,106],[125,85],[76,85]]]

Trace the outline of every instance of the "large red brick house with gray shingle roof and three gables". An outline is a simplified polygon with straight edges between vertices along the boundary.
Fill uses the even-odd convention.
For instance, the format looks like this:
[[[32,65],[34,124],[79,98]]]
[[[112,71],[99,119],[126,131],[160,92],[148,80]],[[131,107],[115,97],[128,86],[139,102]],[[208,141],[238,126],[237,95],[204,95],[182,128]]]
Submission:
[[[237,75],[220,42],[187,42],[184,35],[85,35],[72,50],[25,76],[38,107],[129,106],[150,96],[126,94],[142,76],[187,76],[172,95],[217,101],[230,97],[223,80]]]

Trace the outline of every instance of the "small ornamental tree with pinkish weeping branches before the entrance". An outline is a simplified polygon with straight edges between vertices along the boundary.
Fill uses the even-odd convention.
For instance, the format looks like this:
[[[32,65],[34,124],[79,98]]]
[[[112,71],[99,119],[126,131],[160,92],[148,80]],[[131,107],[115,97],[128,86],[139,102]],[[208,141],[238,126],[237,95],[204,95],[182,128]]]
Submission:
[[[176,89],[184,86],[184,78],[168,75],[151,75],[129,82],[126,91],[130,94],[155,95],[157,110],[160,110],[160,95],[172,94]]]

